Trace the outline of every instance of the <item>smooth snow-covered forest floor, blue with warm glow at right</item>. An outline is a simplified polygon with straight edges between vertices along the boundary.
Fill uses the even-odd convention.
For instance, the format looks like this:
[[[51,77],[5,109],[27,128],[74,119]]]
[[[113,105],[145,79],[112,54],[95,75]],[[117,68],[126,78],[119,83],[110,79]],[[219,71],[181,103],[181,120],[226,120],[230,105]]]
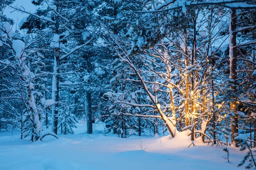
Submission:
[[[228,147],[191,144],[185,133],[169,136],[132,136],[127,139],[105,136],[103,125],[87,135],[79,124],[73,135],[46,137],[44,141],[19,139],[18,132],[0,132],[0,170],[235,170],[245,152]],[[98,133],[98,134],[97,134]],[[140,146],[142,144],[142,147]],[[142,150],[145,149],[145,150]]]

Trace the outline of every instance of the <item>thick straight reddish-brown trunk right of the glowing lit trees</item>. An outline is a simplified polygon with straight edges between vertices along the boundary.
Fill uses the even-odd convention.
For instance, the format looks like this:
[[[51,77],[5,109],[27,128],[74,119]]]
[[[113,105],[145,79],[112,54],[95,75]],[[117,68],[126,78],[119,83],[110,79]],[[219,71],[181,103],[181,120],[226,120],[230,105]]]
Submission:
[[[233,94],[236,92],[236,58],[237,58],[237,49],[236,49],[236,9],[230,9],[230,79],[232,79],[233,83],[230,85],[230,89]],[[238,147],[236,144],[235,138],[238,135],[238,118],[237,118],[237,103],[236,100],[231,99],[230,101],[230,111],[231,111],[231,143],[233,146]]]

